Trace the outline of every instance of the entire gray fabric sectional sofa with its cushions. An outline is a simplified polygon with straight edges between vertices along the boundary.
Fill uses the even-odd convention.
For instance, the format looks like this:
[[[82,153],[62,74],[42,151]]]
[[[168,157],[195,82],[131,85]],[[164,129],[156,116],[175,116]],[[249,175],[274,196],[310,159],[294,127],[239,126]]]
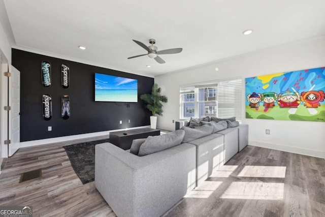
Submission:
[[[188,125],[176,121],[176,131],[134,140],[130,150],[95,146],[95,187],[117,216],[164,214],[248,144],[248,125]]]

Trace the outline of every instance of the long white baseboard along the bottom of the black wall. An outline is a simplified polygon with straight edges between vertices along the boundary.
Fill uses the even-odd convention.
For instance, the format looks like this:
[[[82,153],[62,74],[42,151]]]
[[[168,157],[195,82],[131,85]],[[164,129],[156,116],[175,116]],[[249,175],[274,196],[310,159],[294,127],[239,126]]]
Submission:
[[[150,126],[142,126],[142,127],[128,128],[127,130],[148,128],[148,127],[150,128]],[[37,145],[46,145],[46,144],[52,144],[52,143],[58,143],[58,142],[67,142],[67,141],[72,141],[72,140],[82,140],[82,139],[99,137],[99,136],[107,136],[107,135],[109,138],[110,132],[123,131],[123,130],[126,130],[126,129],[78,134],[78,135],[72,135],[72,136],[62,136],[62,137],[55,137],[55,138],[49,138],[49,139],[32,140],[32,141],[20,142],[19,147],[25,148],[25,147],[31,147],[31,146],[37,146]]]

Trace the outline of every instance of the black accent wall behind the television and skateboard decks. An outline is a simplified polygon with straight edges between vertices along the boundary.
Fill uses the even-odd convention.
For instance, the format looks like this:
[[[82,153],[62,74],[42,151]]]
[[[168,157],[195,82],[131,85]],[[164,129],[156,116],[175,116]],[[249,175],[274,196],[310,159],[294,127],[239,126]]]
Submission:
[[[41,63],[52,66],[51,86],[41,82]],[[70,68],[70,87],[61,87],[61,65]],[[20,71],[20,141],[70,136],[115,129],[150,125],[150,111],[140,95],[151,92],[154,79],[145,76],[76,63],[12,49],[12,65]],[[94,73],[102,73],[138,80],[138,103],[94,102]],[[52,96],[53,116],[42,117],[42,95]],[[61,117],[61,96],[69,95],[71,116]],[[128,119],[131,123],[128,123]],[[122,120],[122,124],[119,121]],[[52,126],[52,131],[48,127]]]

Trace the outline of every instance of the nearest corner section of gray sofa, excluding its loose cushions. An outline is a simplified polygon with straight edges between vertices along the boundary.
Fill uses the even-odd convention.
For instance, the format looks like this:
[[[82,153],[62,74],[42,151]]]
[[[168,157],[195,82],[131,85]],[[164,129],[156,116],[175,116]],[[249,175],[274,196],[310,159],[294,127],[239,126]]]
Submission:
[[[95,186],[118,216],[160,216],[195,187],[195,159],[188,143],[143,157],[99,144]]]

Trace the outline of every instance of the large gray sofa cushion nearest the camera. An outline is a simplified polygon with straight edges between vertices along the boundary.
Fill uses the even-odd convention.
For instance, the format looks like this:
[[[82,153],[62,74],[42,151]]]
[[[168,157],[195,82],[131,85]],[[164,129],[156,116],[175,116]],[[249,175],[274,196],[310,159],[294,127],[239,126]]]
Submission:
[[[148,136],[146,141],[140,146],[138,156],[145,156],[179,145],[184,138],[184,134],[183,130],[177,130],[160,136]]]

